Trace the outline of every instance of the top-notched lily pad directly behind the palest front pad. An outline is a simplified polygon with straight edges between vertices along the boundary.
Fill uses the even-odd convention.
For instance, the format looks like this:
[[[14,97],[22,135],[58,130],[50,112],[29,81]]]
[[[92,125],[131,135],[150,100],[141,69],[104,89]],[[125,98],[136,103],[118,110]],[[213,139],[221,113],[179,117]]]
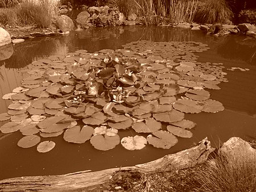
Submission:
[[[132,128],[137,133],[152,133],[158,131],[162,128],[162,124],[156,121],[154,118],[147,118],[144,122],[136,122],[133,124]]]

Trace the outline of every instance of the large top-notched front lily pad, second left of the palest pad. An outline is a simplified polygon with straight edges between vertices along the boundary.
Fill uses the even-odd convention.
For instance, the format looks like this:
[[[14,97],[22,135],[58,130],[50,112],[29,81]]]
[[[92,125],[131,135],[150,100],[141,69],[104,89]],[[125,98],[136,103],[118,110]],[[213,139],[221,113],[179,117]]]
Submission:
[[[94,129],[90,126],[75,126],[64,132],[64,140],[69,143],[85,143],[94,133]]]

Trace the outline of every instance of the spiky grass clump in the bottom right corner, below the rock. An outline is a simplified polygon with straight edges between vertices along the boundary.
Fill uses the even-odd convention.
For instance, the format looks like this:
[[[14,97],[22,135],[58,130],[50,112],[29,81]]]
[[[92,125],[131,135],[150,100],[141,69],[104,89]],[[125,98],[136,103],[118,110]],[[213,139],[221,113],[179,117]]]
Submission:
[[[200,184],[196,192],[255,192],[256,191],[256,157],[226,161],[217,156],[208,162],[204,171],[195,174]]]

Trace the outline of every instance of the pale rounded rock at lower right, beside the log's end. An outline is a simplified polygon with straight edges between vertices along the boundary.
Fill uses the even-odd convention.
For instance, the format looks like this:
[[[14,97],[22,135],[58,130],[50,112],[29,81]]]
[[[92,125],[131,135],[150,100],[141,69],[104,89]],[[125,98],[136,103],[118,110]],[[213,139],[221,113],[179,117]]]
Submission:
[[[256,160],[256,150],[240,137],[231,137],[220,148],[220,155],[229,162],[243,161],[245,158]]]

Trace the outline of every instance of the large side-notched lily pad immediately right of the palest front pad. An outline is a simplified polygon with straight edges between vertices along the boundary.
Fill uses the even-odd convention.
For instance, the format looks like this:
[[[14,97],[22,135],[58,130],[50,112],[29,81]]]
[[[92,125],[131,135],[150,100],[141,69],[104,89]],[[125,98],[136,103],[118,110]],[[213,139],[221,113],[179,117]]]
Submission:
[[[159,130],[152,133],[152,135],[148,135],[147,141],[156,148],[170,149],[178,140],[172,133]]]

